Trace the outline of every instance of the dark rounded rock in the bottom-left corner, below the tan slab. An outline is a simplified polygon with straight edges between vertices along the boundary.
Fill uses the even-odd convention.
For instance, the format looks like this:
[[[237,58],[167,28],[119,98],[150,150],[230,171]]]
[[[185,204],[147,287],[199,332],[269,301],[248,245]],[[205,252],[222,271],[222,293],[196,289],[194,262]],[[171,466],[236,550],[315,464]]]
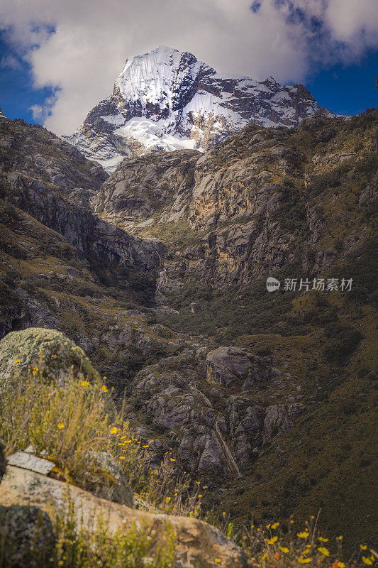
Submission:
[[[33,505],[0,505],[1,567],[50,565],[54,533],[50,517]],[[3,548],[4,547],[4,548]]]

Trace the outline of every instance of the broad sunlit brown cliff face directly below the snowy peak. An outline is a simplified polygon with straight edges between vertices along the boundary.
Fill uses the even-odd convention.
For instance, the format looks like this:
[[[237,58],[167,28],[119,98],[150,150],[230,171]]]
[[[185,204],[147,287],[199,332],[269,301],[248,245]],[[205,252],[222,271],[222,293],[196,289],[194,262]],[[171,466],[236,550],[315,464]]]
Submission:
[[[125,160],[94,206],[101,217],[144,234],[186,224],[191,244],[170,249],[167,291],[199,274],[218,286],[245,285],[296,262],[303,273],[321,275],[371,233],[360,232],[338,197],[340,178],[354,183],[363,163],[375,160],[374,129],[363,142],[345,140],[357,136],[355,123],[318,117],[296,131],[250,125],[204,155]]]

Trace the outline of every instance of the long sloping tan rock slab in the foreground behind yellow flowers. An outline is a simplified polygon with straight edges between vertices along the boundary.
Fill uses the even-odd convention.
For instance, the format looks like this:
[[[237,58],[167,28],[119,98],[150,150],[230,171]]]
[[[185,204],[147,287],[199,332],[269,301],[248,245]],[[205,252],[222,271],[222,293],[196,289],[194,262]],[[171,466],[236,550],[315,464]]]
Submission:
[[[155,542],[160,540],[167,523],[177,529],[175,566],[177,568],[229,568],[247,567],[247,560],[239,547],[228,540],[218,529],[201,520],[173,515],[157,515],[131,509],[93,496],[33,471],[9,466],[0,484],[0,503],[37,506],[49,515],[67,506],[67,493],[74,503],[77,521],[96,528],[99,518],[108,523],[109,531],[123,530],[130,523],[142,526],[147,523]],[[155,532],[154,532],[155,531]],[[216,560],[217,559],[217,560]]]

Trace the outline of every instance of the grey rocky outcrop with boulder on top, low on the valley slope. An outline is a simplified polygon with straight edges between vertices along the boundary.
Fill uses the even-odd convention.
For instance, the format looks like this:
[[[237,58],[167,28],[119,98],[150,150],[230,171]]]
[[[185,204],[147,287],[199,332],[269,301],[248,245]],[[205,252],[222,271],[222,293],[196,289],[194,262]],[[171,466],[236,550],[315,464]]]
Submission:
[[[145,418],[146,427],[138,435],[155,452],[154,463],[172,449],[191,473],[238,477],[257,458],[269,427],[274,435],[287,430],[284,420],[273,425],[270,415],[265,418],[254,396],[260,387],[272,388],[282,371],[272,366],[272,358],[246,349],[206,352],[191,346],[140,371],[130,388],[126,415],[132,423],[140,415]],[[290,426],[297,405],[291,406],[285,414],[293,420]]]

